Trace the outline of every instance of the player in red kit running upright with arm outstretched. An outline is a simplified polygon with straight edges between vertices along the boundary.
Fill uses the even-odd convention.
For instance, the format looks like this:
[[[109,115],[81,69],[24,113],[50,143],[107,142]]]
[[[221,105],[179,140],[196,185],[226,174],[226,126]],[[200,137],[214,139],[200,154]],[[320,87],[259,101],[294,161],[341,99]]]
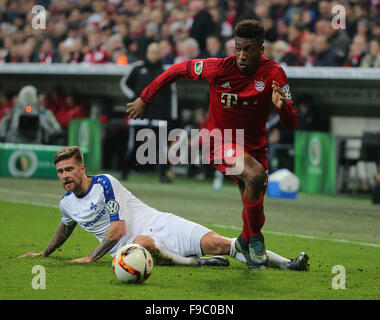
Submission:
[[[238,174],[231,176],[239,186],[243,202],[243,230],[235,247],[244,254],[250,269],[264,269],[268,261],[261,229],[265,221],[263,200],[268,181],[265,124],[272,104],[286,128],[294,129],[298,121],[285,72],[279,64],[262,55],[263,40],[262,24],[243,20],[235,27],[235,56],[177,63],[153,80],[138,99],[127,104],[130,118],[143,118],[154,97],[176,80],[208,81],[209,132],[244,130],[243,146],[234,138],[236,134],[232,135],[232,141],[222,136],[222,151],[211,143],[209,158],[223,173],[231,168],[239,169]],[[223,145],[226,142],[228,150]],[[221,154],[221,161],[216,161],[220,160],[217,154]]]

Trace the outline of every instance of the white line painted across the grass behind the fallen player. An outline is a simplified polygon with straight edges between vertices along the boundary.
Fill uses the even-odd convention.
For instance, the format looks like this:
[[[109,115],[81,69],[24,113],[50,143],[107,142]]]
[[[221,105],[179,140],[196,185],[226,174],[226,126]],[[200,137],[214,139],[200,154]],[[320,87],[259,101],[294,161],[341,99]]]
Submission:
[[[33,205],[33,206],[42,206],[42,207],[48,207],[48,208],[54,208],[54,209],[59,208],[58,205],[46,204],[46,203],[40,203],[40,202],[29,202],[29,201],[22,201],[22,200],[4,200],[4,201],[13,202],[13,203],[28,204],[28,205]],[[227,225],[223,225],[223,224],[211,224],[211,226],[217,227],[217,228],[241,230],[241,227],[227,226]],[[278,235],[278,236],[301,238],[301,239],[331,241],[331,242],[336,242],[336,243],[346,243],[346,244],[354,244],[354,245],[360,245],[360,246],[366,246],[366,247],[380,248],[380,244],[370,243],[370,242],[351,241],[351,240],[346,240],[346,239],[325,238],[325,237],[311,236],[311,235],[305,235],[305,234],[271,231],[271,230],[265,230],[264,233],[274,234],[274,235]]]

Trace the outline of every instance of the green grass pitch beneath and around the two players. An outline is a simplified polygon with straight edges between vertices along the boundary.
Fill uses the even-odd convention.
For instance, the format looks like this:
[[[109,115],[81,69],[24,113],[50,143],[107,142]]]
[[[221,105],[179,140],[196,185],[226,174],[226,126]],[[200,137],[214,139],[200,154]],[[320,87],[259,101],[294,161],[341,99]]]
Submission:
[[[117,175],[115,175],[118,177]],[[220,192],[210,181],[177,179],[162,185],[156,177],[132,175],[124,185],[147,204],[202,223],[222,235],[240,233],[242,204],[238,189],[226,183]],[[155,266],[142,285],[122,285],[111,257],[72,264],[97,240],[77,227],[48,258],[21,259],[40,252],[60,220],[58,180],[0,178],[0,299],[380,299],[380,207],[369,199],[299,194],[296,200],[266,198],[263,229],[269,250],[286,257],[306,251],[310,272],[278,269],[251,271],[237,260],[218,267]],[[46,288],[33,289],[35,265],[46,271]],[[345,269],[346,288],[336,290],[335,265]]]

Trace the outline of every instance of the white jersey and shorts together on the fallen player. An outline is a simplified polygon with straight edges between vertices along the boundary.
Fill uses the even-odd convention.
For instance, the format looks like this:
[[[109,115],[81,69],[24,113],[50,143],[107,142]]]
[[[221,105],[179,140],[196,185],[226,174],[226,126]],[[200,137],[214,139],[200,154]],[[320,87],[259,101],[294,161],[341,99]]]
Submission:
[[[111,255],[121,246],[132,243],[140,234],[153,238],[170,252],[183,257],[201,255],[201,239],[211,231],[146,205],[109,174],[92,176],[87,192],[79,197],[66,193],[59,208],[64,224],[70,225],[75,221],[100,242],[106,237],[112,221],[123,220],[125,235],[109,251]]]

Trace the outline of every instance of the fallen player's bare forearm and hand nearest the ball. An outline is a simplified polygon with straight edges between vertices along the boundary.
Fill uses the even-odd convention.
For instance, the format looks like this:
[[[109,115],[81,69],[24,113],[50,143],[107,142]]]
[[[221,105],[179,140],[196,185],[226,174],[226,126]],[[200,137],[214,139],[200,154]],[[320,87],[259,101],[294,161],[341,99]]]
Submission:
[[[70,262],[93,262],[103,257],[108,251],[110,251],[125,234],[125,222],[124,220],[113,221],[108,229],[107,235],[104,240],[97,246],[91,253],[84,258],[74,259]]]

